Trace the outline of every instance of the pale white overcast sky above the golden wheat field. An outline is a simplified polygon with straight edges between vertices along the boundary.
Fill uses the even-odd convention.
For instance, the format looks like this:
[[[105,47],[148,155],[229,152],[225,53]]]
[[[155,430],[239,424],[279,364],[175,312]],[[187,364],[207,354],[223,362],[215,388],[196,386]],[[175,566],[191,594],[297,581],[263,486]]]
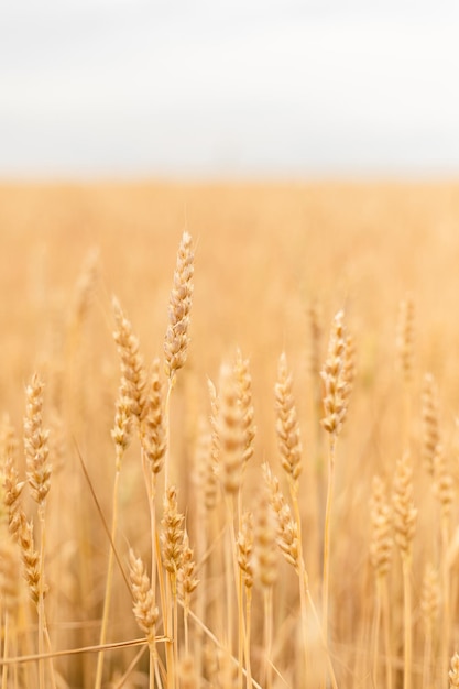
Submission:
[[[0,176],[459,174],[457,0],[0,0]]]

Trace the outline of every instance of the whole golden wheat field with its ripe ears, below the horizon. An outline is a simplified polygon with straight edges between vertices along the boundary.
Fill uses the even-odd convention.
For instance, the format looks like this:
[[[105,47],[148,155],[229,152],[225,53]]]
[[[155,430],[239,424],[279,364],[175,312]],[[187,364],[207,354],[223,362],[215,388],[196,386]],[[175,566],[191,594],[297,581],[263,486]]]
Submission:
[[[458,264],[452,184],[3,184],[1,689],[459,687]]]

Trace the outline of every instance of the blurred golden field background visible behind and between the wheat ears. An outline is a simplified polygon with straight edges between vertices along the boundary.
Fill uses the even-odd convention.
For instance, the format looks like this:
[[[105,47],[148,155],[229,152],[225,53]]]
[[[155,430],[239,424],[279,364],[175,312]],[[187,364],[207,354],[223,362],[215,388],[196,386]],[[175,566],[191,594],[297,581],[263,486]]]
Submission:
[[[187,227],[196,247],[192,343],[173,395],[171,451],[179,468],[179,505],[187,515],[192,543],[198,525],[196,505],[188,497],[196,480],[193,457],[198,418],[209,415],[207,378],[217,381],[221,361],[231,359],[237,347],[250,359],[258,433],[244,503],[256,510],[261,462],[269,460],[275,473],[282,472],[273,386],[278,357],[285,351],[294,373],[303,434],[304,548],[316,601],[320,600],[319,495],[325,485],[327,440],[325,433],[319,438],[316,435],[310,308],[319,314],[323,361],[337,310],[345,309],[346,322],[356,338],[357,379],[339,444],[331,542],[330,648],[342,687],[364,686],[370,676],[374,588],[369,565],[369,496],[375,473],[391,486],[395,462],[405,449],[401,423],[405,393],[396,324],[400,302],[407,296],[413,299],[411,442],[419,510],[413,570],[413,676],[420,681],[422,578],[427,561],[435,560],[438,543],[435,501],[420,458],[420,387],[424,374],[431,372],[440,390],[441,425],[457,481],[458,217],[459,187],[453,184],[0,188],[1,411],[10,415],[20,434],[24,386],[37,370],[46,380],[45,418],[52,424],[56,411],[64,418],[64,453],[53,474],[48,510],[50,543],[55,545],[46,565],[48,624],[56,647],[96,644],[98,637],[108,543],[76,446],[109,518],[113,477],[110,429],[119,384],[111,298],[117,295],[129,315],[146,362],[162,356],[173,266],[182,229]],[[96,266],[96,278],[78,319],[78,281],[88,261]],[[455,506],[452,515],[455,529],[459,524]],[[147,505],[135,444],[122,472],[119,548],[124,556],[128,543],[147,553]],[[397,558],[394,551],[392,586],[401,611]],[[287,644],[297,601],[293,598],[285,609],[283,597],[288,589],[284,587],[292,572],[281,561],[280,566],[283,583],[281,608],[275,613],[281,625],[276,663],[284,679],[275,686],[297,686]],[[456,566],[451,575],[456,605],[455,572]],[[116,587],[110,641],[135,637],[129,592],[119,572]],[[259,615],[260,606],[261,599],[255,599]],[[401,612],[396,606],[394,610],[396,637],[402,623]],[[456,608],[452,620],[455,614]],[[459,643],[455,622],[451,642]],[[130,653],[111,656],[108,677],[116,677],[117,668],[119,672],[125,669]],[[401,667],[400,647],[396,653],[395,667]],[[81,678],[91,677],[91,663],[87,657],[70,658],[58,661],[58,667],[69,686],[78,686],[73,681],[90,686]],[[135,679],[130,681],[132,685],[127,686],[138,686]]]

